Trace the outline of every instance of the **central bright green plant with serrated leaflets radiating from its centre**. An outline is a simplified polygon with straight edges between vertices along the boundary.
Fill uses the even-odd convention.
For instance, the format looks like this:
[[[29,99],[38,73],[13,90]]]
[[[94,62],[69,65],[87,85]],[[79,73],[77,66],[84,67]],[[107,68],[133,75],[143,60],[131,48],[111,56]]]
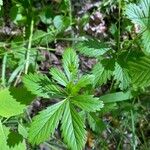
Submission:
[[[90,94],[93,76],[80,77],[78,74],[79,59],[73,49],[69,48],[64,52],[62,63],[64,72],[58,68],[51,68],[51,80],[47,76],[31,73],[23,78],[25,86],[32,94],[59,99],[58,103],[49,106],[33,118],[29,141],[32,144],[44,142],[54,134],[61,120],[64,141],[69,148],[79,150],[86,142],[85,125],[79,112],[99,111],[103,102]]]

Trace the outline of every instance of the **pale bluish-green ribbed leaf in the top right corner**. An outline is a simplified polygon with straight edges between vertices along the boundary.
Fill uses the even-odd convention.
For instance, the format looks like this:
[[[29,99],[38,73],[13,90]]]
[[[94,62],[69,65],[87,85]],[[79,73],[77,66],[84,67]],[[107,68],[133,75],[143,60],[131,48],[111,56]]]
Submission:
[[[145,52],[150,53],[150,0],[141,0],[138,5],[129,4],[126,15],[134,24],[139,25]]]

